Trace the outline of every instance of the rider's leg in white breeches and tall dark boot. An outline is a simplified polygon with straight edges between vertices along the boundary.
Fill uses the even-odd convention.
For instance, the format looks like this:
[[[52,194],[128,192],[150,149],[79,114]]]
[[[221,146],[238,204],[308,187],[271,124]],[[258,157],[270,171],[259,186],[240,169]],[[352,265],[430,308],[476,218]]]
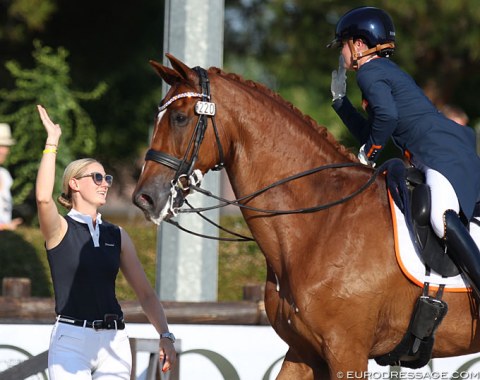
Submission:
[[[467,276],[480,296],[480,250],[459,217],[460,206],[450,182],[433,169],[425,171],[432,195],[431,223],[435,233],[445,239],[453,261]]]

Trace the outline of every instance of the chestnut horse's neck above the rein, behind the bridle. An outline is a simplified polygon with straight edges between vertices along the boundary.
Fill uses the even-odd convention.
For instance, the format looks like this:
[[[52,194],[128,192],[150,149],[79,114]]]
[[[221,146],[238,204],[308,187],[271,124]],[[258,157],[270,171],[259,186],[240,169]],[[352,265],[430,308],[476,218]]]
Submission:
[[[222,123],[229,131],[227,172],[237,196],[321,165],[351,160],[328,132],[276,99],[246,85],[233,94]]]

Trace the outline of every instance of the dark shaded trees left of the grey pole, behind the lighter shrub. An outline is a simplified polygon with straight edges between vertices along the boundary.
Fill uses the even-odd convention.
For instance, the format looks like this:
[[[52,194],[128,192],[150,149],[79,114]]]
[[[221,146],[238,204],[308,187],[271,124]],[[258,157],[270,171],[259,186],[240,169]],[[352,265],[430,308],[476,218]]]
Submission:
[[[12,8],[22,9],[21,14]],[[97,126],[93,155],[114,174],[143,155],[161,100],[162,82],[148,61],[162,60],[163,11],[164,2],[158,0],[0,2],[3,60],[31,67],[31,41],[39,39],[69,52],[70,77],[76,88],[108,84],[105,96],[84,104],[84,109]],[[22,37],[14,38],[13,29],[21,30],[17,34]],[[3,63],[0,87],[14,87]],[[124,178],[118,176],[116,183]]]

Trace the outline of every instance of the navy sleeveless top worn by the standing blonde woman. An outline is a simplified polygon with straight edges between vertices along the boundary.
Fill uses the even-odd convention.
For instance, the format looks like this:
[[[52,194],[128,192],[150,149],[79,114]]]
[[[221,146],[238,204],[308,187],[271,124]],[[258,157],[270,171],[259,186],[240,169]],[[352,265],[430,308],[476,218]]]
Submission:
[[[120,228],[103,221],[100,246],[94,247],[88,225],[68,215],[67,233],[59,245],[47,249],[55,292],[55,312],[89,321],[105,314],[123,317],[115,294],[120,268]]]

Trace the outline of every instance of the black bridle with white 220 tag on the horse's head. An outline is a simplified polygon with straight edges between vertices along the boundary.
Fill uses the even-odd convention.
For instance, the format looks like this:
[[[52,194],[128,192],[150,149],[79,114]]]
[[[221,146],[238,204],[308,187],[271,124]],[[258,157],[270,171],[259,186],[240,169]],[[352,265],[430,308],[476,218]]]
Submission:
[[[195,104],[195,113],[198,115],[197,125],[193,131],[192,137],[188,143],[187,150],[182,159],[171,156],[168,153],[160,152],[154,149],[149,149],[145,155],[145,161],[154,161],[161,165],[164,165],[172,170],[175,170],[175,176],[172,181],[172,185],[179,187],[181,190],[188,190],[188,182],[194,171],[195,163],[198,159],[198,152],[205,136],[205,131],[208,127],[208,118],[212,119],[213,130],[215,132],[215,139],[218,147],[218,155],[220,162],[216,164],[211,170],[221,170],[223,168],[223,149],[220,143],[220,137],[218,135],[217,126],[215,123],[215,103],[210,102],[210,81],[208,79],[208,73],[201,67],[194,67],[199,78],[199,84],[202,89],[201,93],[197,92],[185,92],[173,96],[163,105],[158,107],[158,112],[162,112],[168,108],[170,104],[181,98],[201,98]],[[190,157],[190,158],[189,158]],[[187,184],[182,184],[181,179],[185,178]]]

